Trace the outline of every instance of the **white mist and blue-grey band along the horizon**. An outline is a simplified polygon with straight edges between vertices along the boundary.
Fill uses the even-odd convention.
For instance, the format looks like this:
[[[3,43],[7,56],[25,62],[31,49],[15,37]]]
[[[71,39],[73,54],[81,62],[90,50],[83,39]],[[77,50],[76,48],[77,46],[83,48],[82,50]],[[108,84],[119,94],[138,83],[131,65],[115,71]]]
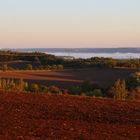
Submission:
[[[15,50],[15,49],[14,49]],[[140,48],[34,48],[23,52],[44,52],[55,56],[75,58],[110,57],[116,59],[140,58]]]

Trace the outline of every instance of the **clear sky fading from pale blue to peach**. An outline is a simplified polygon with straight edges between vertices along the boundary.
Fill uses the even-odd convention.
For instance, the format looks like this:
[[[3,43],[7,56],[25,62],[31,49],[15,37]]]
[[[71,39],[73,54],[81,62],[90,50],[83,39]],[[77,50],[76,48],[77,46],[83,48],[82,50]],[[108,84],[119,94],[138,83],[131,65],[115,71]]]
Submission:
[[[6,47],[140,47],[140,0],[0,0]]]

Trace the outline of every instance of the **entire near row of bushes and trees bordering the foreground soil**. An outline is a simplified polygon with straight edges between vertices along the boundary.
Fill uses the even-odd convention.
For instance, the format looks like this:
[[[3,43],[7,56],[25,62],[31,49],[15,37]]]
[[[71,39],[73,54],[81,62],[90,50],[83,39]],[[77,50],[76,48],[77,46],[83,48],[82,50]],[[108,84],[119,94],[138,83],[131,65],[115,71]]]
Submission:
[[[131,88],[130,88],[131,83]],[[24,82],[23,79],[0,79],[1,91],[43,93],[43,94],[71,94],[91,97],[107,97],[116,100],[140,99],[140,74],[131,74],[128,79],[118,79],[110,88],[100,88],[92,81],[84,81],[79,86],[73,86],[70,90],[61,89],[56,86],[45,86],[37,83]]]

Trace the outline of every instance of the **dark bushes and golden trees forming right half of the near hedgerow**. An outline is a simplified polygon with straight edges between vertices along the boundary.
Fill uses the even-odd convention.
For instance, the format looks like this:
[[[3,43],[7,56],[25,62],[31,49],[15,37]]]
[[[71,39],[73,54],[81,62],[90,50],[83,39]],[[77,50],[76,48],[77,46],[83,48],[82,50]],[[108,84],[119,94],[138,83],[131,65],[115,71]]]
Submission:
[[[109,88],[101,88],[92,81],[84,81],[82,85],[71,87],[70,93],[115,100],[140,100],[140,72],[129,75],[127,79],[117,79]]]

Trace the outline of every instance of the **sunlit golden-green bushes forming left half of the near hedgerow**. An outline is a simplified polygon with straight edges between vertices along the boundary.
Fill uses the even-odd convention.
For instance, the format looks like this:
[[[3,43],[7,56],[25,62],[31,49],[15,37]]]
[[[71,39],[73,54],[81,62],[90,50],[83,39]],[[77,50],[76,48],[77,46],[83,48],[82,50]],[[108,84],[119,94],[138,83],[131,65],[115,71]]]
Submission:
[[[25,82],[23,79],[8,79],[0,78],[0,90],[12,92],[31,92],[44,94],[67,94],[67,90],[58,88],[56,86],[43,86],[37,83]]]

